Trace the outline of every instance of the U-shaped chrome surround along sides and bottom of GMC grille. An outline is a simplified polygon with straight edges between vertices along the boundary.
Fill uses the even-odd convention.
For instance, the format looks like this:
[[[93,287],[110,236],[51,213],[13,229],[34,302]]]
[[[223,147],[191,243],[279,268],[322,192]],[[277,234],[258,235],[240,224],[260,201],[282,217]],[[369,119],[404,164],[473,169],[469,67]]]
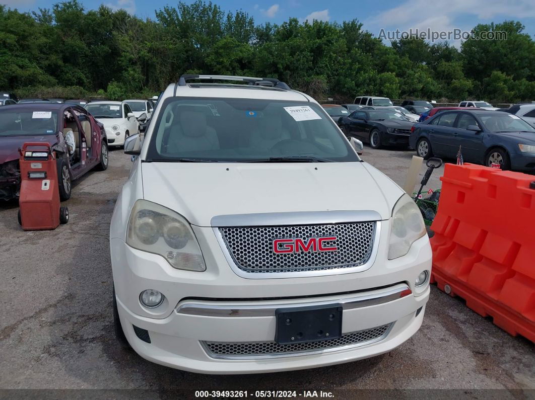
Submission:
[[[364,222],[364,221],[351,221],[351,222]],[[293,272],[277,272],[277,271],[247,272],[247,271],[243,271],[234,262],[232,255],[228,251],[228,247],[225,243],[225,239],[223,239],[223,235],[219,231],[219,228],[213,227],[212,230],[216,236],[217,241],[219,242],[219,246],[221,247],[221,251],[223,252],[223,255],[225,256],[228,262],[228,265],[231,267],[232,271],[239,277],[246,278],[246,279],[307,278],[307,277],[321,277],[321,276],[327,276],[327,275],[341,275],[341,274],[346,274],[346,273],[362,272],[362,271],[370,269],[373,263],[375,263],[375,259],[377,257],[377,250],[379,248],[379,241],[380,241],[379,239],[381,237],[381,221],[377,221],[375,223],[375,236],[373,237],[373,247],[371,250],[370,258],[368,258],[368,261],[366,263],[362,265],[351,266],[349,268],[332,268],[332,269],[318,270],[318,271],[293,271]]]

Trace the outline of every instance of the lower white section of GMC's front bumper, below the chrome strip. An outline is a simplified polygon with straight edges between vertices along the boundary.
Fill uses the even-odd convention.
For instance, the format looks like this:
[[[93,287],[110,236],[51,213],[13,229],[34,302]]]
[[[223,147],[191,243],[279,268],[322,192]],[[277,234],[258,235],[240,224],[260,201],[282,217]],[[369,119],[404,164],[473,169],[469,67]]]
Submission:
[[[418,297],[409,295],[380,305],[343,311],[342,334],[372,332],[374,328],[388,325],[387,332],[379,338],[348,346],[261,356],[217,356],[207,348],[206,343],[218,342],[227,348],[238,348],[240,343],[246,343],[248,347],[265,347],[264,343],[273,342],[276,330],[274,316],[208,316],[207,311],[230,305],[228,302],[212,301],[204,302],[206,308],[203,315],[185,314],[177,309],[169,317],[154,320],[135,315],[119,299],[117,304],[128,342],[141,357],[190,372],[233,374],[299,370],[351,362],[388,352],[408,340],[422,325],[429,292],[428,286],[424,294]],[[278,304],[280,308],[287,308],[299,303],[307,304],[303,301],[292,300]],[[332,297],[330,301],[337,303],[337,299]],[[260,304],[254,302],[254,306]],[[150,343],[136,335],[134,326],[148,331]],[[240,350],[237,352],[240,353]]]

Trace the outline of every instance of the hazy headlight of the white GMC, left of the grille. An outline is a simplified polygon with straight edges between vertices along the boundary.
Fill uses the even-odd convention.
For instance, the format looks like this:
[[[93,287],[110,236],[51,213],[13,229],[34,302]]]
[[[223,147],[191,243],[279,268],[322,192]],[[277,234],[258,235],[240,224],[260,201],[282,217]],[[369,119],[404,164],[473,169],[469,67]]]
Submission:
[[[137,200],[132,208],[126,243],[138,250],[161,255],[173,268],[206,269],[201,248],[186,219],[147,200]]]

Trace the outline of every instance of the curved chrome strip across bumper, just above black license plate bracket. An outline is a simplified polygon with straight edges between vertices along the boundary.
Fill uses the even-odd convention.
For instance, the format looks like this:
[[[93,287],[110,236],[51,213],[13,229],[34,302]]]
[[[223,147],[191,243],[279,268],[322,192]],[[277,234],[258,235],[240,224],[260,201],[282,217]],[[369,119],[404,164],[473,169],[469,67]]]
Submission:
[[[344,311],[356,308],[370,307],[371,305],[385,304],[401,299],[403,291],[410,291],[406,284],[399,284],[387,288],[383,292],[356,294],[346,299],[312,300],[309,302],[290,303],[288,301],[270,304],[214,304],[215,302],[186,301],[179,304],[175,310],[179,314],[202,316],[202,317],[274,317],[275,310],[285,307],[310,307],[327,304],[341,304]],[[412,294],[412,292],[411,292]],[[297,299],[299,301],[299,299]]]

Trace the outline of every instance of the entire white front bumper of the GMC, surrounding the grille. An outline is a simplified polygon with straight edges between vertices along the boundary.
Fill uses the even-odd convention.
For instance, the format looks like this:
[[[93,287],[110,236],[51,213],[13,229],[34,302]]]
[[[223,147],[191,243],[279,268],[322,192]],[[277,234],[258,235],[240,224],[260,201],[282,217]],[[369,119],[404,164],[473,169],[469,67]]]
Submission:
[[[417,240],[406,256],[387,260],[389,226],[385,222],[385,229],[378,238],[377,257],[368,270],[303,278],[246,279],[232,271],[211,228],[193,228],[201,248],[209,249],[203,252],[207,264],[204,272],[173,269],[161,256],[131,248],[123,239],[110,240],[121,324],[134,350],[152,362],[213,374],[319,367],[392,350],[409,339],[422,324],[429,286],[418,290],[414,281],[421,271],[431,270],[427,237]],[[276,308],[299,307],[318,301],[338,304],[348,297],[377,295],[399,287],[409,287],[412,294],[343,309],[342,334],[392,324],[380,340],[319,349],[308,354],[255,355],[247,359],[217,357],[210,354],[206,346],[207,342],[272,343],[276,331],[273,310]],[[155,309],[144,308],[139,301],[140,293],[149,288],[165,295],[162,305]],[[264,313],[251,314],[250,309],[262,309]],[[147,331],[150,343],[140,339],[134,326]]]

